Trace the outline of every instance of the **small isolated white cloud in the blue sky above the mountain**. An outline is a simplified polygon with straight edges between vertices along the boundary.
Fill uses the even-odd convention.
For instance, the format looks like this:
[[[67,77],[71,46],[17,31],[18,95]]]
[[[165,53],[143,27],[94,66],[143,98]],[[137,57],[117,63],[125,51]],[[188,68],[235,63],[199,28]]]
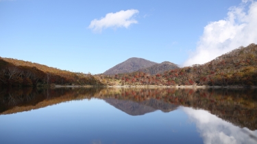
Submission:
[[[101,32],[102,29],[106,29],[108,27],[129,27],[133,23],[138,23],[137,20],[133,18],[135,14],[138,14],[138,10],[121,10],[115,13],[108,13],[106,17],[100,18],[99,20],[94,19],[91,21],[88,26],[89,29],[93,29],[93,31]]]

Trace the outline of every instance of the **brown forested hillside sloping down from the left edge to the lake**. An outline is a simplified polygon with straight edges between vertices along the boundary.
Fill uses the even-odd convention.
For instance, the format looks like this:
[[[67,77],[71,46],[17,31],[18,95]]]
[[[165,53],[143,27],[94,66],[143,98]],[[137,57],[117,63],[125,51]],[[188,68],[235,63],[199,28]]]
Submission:
[[[47,86],[102,85],[91,74],[69,72],[38,63],[0,57],[0,85],[2,86]]]

